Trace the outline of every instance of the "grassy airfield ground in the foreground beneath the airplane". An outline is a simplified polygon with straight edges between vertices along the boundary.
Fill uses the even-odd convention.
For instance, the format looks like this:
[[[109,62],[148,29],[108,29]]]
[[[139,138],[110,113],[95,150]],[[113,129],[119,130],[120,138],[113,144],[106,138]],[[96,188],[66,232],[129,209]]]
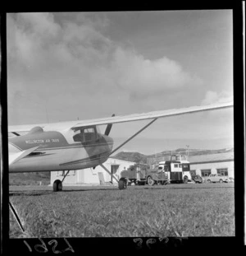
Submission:
[[[234,184],[10,187],[10,237],[234,236]]]

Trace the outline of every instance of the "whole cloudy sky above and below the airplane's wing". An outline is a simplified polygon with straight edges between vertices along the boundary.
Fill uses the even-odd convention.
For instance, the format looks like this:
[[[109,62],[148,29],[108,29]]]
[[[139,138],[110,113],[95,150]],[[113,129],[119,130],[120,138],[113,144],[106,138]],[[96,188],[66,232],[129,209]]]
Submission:
[[[8,13],[8,123],[232,101],[232,35],[231,10]],[[146,123],[113,125],[115,146]],[[120,151],[233,147],[233,124],[233,109],[158,119]]]

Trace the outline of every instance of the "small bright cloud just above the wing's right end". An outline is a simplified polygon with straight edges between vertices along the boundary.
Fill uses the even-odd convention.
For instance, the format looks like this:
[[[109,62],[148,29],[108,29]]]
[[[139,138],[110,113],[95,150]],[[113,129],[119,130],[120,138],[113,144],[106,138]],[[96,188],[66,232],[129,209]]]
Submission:
[[[224,103],[233,101],[233,95],[230,95],[227,91],[221,91],[217,93],[216,91],[207,91],[201,105],[209,105],[214,103]]]

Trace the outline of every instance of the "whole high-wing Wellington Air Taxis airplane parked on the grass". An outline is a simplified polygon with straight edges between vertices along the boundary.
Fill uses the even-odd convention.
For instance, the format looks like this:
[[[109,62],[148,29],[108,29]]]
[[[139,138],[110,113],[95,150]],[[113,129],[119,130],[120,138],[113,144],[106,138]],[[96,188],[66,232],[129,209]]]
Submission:
[[[165,109],[143,114],[128,114],[104,119],[77,120],[61,123],[39,123],[34,126],[8,126],[8,133],[14,135],[8,139],[9,172],[43,172],[95,168],[101,165],[110,175],[111,172],[103,165],[109,156],[129,142],[139,133],[148,128],[159,118],[181,114],[192,114],[201,111],[225,109],[233,107],[233,103],[192,106],[182,109]],[[150,119],[151,121],[137,133],[128,138],[120,146],[113,149],[113,139],[109,137],[113,123],[125,123]],[[107,124],[104,133],[99,125]],[[25,135],[21,135],[21,133]],[[53,191],[62,191],[62,182],[66,178],[57,179],[53,183]],[[115,176],[113,176],[116,179]],[[119,189],[126,189],[125,178],[116,179]]]

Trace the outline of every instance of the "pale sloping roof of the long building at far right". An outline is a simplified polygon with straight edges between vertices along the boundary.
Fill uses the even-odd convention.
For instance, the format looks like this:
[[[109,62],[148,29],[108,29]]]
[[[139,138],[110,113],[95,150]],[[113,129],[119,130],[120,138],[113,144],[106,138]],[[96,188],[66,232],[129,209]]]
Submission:
[[[201,156],[189,156],[188,161],[192,163],[199,162],[210,162],[210,161],[225,161],[225,160],[234,160],[234,152],[210,154],[210,155],[201,155]]]

